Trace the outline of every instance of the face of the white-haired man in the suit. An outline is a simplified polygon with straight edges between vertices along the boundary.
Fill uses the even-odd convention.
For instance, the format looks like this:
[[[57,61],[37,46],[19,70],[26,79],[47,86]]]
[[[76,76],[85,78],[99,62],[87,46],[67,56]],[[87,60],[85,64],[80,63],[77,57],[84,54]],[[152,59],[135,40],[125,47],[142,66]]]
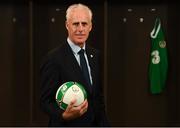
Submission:
[[[74,9],[66,21],[68,36],[76,45],[83,47],[92,28],[92,23],[87,10]]]

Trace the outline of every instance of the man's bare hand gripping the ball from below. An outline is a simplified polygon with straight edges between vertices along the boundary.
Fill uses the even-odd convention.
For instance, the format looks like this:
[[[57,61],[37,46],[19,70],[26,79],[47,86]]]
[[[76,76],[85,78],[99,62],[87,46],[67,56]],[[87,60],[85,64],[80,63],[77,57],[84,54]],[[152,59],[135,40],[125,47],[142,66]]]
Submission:
[[[74,106],[75,102],[76,100],[71,101],[67,109],[62,114],[62,117],[65,120],[72,120],[72,119],[78,118],[87,111],[87,108],[88,108],[87,100],[85,100],[81,105],[77,107]]]

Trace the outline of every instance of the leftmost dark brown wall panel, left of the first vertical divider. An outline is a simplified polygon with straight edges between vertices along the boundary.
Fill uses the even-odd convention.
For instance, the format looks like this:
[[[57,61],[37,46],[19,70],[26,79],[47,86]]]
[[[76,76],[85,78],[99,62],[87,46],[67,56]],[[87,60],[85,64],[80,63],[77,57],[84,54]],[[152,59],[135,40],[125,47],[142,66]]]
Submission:
[[[1,126],[28,125],[30,120],[28,6],[0,5]]]

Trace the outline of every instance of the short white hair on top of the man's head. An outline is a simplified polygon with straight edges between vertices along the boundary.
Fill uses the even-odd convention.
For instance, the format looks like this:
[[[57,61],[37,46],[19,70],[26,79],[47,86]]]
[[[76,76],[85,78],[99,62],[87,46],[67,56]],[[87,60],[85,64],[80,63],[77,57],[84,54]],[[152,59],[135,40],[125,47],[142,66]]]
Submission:
[[[88,6],[86,6],[86,5],[84,5],[84,4],[81,4],[81,3],[79,3],[79,4],[72,4],[72,5],[70,5],[70,6],[68,7],[68,9],[66,10],[66,20],[68,20],[68,19],[70,18],[70,14],[71,14],[71,12],[72,12],[75,8],[86,9],[86,10],[88,11],[88,13],[89,13],[90,19],[92,20],[92,11],[91,11],[91,9],[90,9]]]

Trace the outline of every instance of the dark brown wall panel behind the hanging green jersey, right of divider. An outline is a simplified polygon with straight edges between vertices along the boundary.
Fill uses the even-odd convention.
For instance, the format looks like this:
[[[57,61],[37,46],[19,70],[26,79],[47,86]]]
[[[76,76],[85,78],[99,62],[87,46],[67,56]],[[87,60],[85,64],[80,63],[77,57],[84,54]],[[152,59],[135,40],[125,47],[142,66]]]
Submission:
[[[175,8],[168,4],[112,4],[109,7],[107,110],[114,126],[174,126],[178,123],[176,34],[179,30],[176,29]],[[161,18],[169,52],[167,88],[160,95],[150,93],[147,76],[150,32],[156,17]],[[113,57],[117,55],[119,57]]]

